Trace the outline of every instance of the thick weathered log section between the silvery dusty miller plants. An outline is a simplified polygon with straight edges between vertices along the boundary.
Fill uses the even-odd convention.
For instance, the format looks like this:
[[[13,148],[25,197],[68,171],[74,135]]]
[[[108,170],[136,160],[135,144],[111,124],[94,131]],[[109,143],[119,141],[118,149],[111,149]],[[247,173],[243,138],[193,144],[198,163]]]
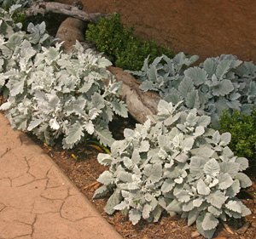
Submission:
[[[137,122],[145,122],[148,115],[157,113],[160,101],[159,94],[152,91],[143,92],[134,77],[118,67],[109,66],[110,71],[118,82],[122,82],[122,100],[125,101],[128,111]]]

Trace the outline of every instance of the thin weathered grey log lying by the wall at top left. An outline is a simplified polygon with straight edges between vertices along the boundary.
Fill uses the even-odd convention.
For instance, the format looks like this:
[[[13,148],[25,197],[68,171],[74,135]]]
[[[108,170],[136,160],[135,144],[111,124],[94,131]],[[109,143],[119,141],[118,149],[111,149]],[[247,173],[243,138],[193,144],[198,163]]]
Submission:
[[[26,15],[28,17],[36,16],[38,14],[64,14],[67,16],[72,16],[73,18],[77,18],[79,20],[84,21],[95,21],[99,20],[102,16],[106,16],[108,14],[101,13],[86,13],[83,10],[78,9],[77,7],[64,4],[64,3],[55,3],[55,2],[39,2],[33,3],[32,7],[26,9]]]

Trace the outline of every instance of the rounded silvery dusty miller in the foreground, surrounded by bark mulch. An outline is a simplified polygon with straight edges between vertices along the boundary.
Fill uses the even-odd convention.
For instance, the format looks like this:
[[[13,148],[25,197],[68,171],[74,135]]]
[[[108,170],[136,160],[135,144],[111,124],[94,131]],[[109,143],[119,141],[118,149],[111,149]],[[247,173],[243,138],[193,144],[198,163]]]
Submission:
[[[241,218],[250,210],[236,194],[252,185],[247,159],[230,151],[230,134],[209,128],[210,117],[196,109],[177,112],[160,100],[158,115],[115,141],[111,155],[99,154],[109,167],[97,179],[103,185],[94,197],[110,192],[105,211],[129,213],[133,225],[140,219],[158,221],[162,211],[181,213],[188,225],[196,223],[211,238],[219,219]]]

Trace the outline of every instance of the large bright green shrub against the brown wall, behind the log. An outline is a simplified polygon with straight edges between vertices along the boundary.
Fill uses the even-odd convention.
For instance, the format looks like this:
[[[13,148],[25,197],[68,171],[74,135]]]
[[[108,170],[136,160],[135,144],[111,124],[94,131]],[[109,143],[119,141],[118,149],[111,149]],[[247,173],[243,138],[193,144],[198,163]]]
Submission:
[[[129,29],[121,23],[120,14],[102,18],[96,25],[90,24],[86,39],[95,41],[96,48],[107,54],[114,65],[127,70],[139,70],[148,54],[149,62],[161,54],[173,57],[172,50],[136,36],[133,28]]]

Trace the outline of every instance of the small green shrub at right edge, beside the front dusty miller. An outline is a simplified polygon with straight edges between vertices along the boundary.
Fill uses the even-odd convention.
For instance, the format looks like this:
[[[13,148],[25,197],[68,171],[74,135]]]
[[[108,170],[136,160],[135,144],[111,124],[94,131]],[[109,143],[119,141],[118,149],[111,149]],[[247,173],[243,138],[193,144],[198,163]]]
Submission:
[[[251,115],[235,111],[230,115],[224,111],[220,117],[220,132],[230,132],[232,135],[230,149],[236,156],[253,158],[256,156],[256,109],[253,107]]]

